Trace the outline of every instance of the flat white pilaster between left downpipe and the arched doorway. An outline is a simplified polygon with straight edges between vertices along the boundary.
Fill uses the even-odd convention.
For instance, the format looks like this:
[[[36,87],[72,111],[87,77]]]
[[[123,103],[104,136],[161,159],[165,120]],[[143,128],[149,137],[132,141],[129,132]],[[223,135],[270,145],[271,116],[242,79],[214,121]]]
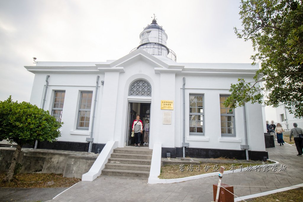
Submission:
[[[119,75],[120,72],[118,71],[105,72],[101,105],[101,114],[103,115],[100,122],[96,123],[100,124],[98,142],[114,140]]]

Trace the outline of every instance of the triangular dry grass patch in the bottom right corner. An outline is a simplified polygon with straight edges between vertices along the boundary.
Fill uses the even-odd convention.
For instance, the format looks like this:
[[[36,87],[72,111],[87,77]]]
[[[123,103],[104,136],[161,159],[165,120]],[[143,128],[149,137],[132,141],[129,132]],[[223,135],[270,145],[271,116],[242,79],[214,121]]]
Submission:
[[[267,196],[257,197],[250,199],[251,202],[274,202],[274,201],[294,201],[302,202],[303,201],[303,188],[292,189],[288,191],[278,192],[275,194],[269,194]]]

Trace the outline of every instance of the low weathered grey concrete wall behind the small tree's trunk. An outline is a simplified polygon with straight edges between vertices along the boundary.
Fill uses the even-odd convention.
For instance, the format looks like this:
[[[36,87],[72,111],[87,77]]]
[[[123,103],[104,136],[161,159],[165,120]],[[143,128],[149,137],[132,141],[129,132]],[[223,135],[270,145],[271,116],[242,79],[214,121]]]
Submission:
[[[15,148],[0,148],[0,172],[7,172],[12,162]],[[55,173],[64,177],[81,178],[89,171],[97,155],[72,151],[22,149],[18,163],[22,165],[20,173]]]

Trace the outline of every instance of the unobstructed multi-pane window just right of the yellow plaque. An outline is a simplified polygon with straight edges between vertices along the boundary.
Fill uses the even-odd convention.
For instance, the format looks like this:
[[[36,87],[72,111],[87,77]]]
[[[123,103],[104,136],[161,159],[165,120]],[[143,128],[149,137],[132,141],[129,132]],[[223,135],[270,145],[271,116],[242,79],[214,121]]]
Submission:
[[[204,135],[204,95],[189,95],[189,134]]]

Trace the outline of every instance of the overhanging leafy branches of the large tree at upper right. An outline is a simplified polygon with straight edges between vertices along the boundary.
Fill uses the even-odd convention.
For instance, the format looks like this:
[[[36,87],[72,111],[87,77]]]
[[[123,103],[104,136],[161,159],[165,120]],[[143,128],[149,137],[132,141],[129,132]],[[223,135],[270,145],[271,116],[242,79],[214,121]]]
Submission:
[[[252,41],[253,64],[261,62],[253,82],[231,84],[225,106],[246,102],[277,107],[285,103],[296,117],[303,117],[303,7],[299,0],[241,1],[243,29],[238,38]],[[263,82],[260,84],[260,82]]]

